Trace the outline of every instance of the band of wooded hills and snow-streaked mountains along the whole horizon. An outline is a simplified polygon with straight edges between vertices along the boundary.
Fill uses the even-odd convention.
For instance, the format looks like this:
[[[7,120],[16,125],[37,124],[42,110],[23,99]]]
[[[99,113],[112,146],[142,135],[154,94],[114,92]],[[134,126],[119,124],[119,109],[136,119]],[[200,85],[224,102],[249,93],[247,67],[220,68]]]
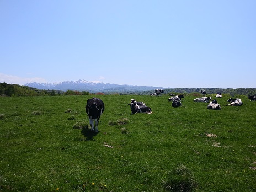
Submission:
[[[0,96],[44,96],[44,95],[87,95],[94,94],[132,94],[149,95],[154,93],[154,89],[161,87],[150,86],[128,86],[109,83],[79,83],[81,81],[67,81],[65,83],[28,83],[26,86],[18,84],[0,83]],[[83,85],[83,88],[81,86]],[[95,86],[95,87],[94,87]],[[61,88],[62,87],[62,88]],[[65,89],[63,87],[66,87]],[[79,88],[80,87],[80,88]],[[62,89],[62,90],[60,90]],[[200,90],[204,89],[207,94],[230,94],[236,95],[256,95],[256,88],[161,88],[165,95],[172,94],[194,94],[200,95]],[[64,91],[66,90],[66,91]]]

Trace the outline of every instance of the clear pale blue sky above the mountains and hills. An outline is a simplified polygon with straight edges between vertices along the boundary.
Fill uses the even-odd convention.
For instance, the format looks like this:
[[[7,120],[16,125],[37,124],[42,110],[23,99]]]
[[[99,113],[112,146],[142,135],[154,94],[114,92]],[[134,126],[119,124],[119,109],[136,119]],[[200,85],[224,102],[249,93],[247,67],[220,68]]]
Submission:
[[[0,1],[0,82],[256,87],[256,1]]]

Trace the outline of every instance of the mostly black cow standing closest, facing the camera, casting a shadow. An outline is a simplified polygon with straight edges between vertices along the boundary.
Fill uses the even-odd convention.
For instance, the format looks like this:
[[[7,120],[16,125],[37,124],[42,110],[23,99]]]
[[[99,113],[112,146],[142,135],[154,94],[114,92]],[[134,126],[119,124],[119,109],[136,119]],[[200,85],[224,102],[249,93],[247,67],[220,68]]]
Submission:
[[[90,127],[92,128],[92,131],[98,132],[99,118],[100,115],[102,115],[104,109],[104,103],[99,98],[92,98],[87,100],[86,113],[89,116]]]

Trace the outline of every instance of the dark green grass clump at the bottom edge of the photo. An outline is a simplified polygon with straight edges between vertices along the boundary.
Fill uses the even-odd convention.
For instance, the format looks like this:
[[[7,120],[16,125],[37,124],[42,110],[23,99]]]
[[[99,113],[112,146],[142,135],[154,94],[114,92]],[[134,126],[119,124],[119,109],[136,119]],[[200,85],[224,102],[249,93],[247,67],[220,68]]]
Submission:
[[[168,191],[184,192],[193,191],[197,186],[193,174],[183,165],[168,172],[163,185]]]

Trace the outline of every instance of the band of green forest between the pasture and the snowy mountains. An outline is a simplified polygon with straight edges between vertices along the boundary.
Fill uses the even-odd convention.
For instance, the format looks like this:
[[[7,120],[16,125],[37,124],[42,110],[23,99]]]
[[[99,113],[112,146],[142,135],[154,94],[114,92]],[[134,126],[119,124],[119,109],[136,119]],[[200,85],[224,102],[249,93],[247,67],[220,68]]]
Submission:
[[[198,94],[201,89],[204,89],[207,94],[229,94],[231,96],[235,95],[256,95],[256,88],[237,88],[237,89],[220,89],[220,88],[169,88],[165,89],[163,94]],[[0,83],[0,95],[1,96],[57,96],[57,95],[89,95],[89,94],[135,94],[135,95],[149,95],[154,93],[152,91],[115,91],[115,92],[98,92],[89,93],[88,91],[76,91],[67,90],[63,92],[61,90],[41,90],[27,86],[20,86],[18,84],[7,84]]]

